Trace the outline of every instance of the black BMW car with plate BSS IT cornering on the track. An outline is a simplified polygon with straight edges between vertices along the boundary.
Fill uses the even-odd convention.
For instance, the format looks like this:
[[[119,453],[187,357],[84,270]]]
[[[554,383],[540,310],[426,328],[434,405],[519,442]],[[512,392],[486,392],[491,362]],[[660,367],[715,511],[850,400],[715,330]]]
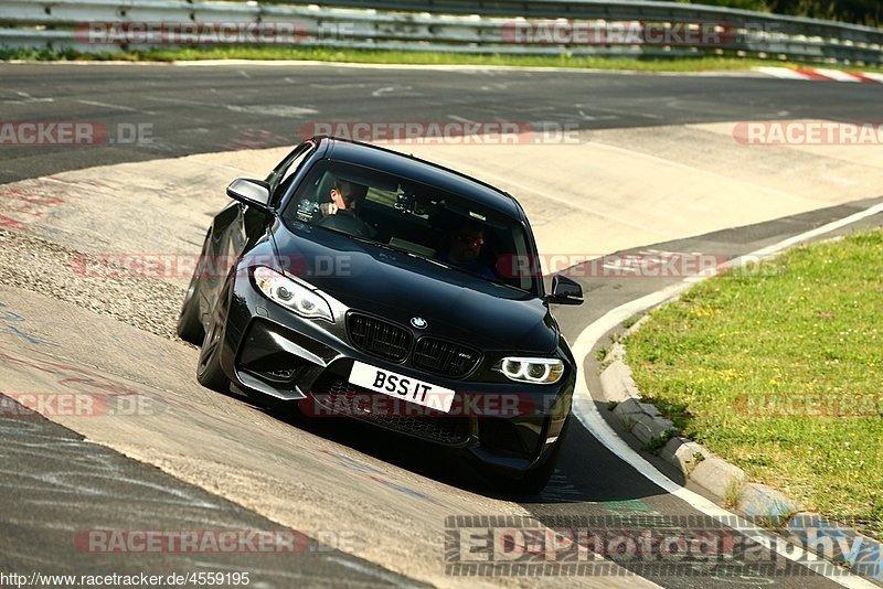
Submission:
[[[202,346],[201,384],[449,447],[511,491],[545,486],[576,382],[549,307],[583,299],[561,276],[545,292],[511,195],[328,137],[227,194],[178,323]]]

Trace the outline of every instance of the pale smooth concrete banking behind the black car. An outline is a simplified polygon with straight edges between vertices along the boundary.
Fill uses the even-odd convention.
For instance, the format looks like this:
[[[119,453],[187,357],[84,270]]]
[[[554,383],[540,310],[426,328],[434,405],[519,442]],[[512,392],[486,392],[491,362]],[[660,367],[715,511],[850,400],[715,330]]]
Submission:
[[[575,144],[386,147],[507,190],[524,206],[541,255],[574,260],[883,194],[883,146],[746,146],[733,138],[736,125],[579,131]],[[288,150],[24,180],[2,190],[43,199],[31,205],[42,216],[0,213],[83,253],[198,254],[209,219],[228,202],[226,184],[237,175],[263,178]]]

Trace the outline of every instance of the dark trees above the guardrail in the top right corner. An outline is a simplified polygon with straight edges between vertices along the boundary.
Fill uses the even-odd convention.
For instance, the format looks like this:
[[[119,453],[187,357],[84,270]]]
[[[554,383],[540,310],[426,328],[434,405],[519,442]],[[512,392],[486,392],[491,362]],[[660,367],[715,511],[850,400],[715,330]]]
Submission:
[[[883,23],[881,0],[698,0],[693,3],[854,22],[870,26],[880,26]]]

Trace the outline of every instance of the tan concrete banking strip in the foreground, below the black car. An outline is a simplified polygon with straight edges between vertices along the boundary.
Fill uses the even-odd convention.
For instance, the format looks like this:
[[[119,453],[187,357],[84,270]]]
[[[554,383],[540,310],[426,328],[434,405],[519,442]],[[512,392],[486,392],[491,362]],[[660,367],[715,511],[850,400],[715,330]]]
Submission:
[[[0,301],[23,319],[20,333],[0,332],[6,395],[55,394],[58,403],[63,394],[78,394],[81,404],[99,407],[115,406],[105,396],[116,398],[131,410],[74,409],[79,415],[52,419],[281,526],[315,538],[333,535],[340,544],[332,548],[455,586],[442,566],[439,513],[530,517],[514,503],[459,489],[456,479],[433,480],[347,448],[345,438],[333,438],[336,424],[317,424],[317,435],[201,387],[192,376],[196,351],[182,343],[19,289],[0,288]],[[425,450],[417,446],[413,460],[439,460],[438,452],[421,456]],[[636,582],[610,580],[608,587]]]

